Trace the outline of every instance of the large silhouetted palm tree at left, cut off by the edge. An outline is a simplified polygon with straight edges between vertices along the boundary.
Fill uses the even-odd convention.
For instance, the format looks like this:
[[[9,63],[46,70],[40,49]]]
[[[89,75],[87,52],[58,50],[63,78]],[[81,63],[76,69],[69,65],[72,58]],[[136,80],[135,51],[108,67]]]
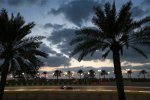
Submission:
[[[3,64],[0,82],[0,100],[3,98],[6,78],[9,72],[38,70],[43,64],[39,57],[47,54],[39,50],[43,36],[27,36],[34,23],[27,23],[18,13],[9,18],[7,11],[0,12],[0,59]]]

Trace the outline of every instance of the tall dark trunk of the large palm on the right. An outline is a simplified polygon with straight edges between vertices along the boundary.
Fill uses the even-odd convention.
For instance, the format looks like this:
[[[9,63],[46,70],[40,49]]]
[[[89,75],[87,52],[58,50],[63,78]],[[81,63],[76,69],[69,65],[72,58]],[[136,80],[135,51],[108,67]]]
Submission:
[[[113,51],[114,72],[119,100],[126,100],[119,51]]]

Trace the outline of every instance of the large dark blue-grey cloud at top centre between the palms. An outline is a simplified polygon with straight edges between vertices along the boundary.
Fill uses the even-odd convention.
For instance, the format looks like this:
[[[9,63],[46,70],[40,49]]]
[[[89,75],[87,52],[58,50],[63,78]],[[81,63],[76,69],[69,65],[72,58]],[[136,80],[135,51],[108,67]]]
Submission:
[[[100,6],[99,2],[94,0],[73,0],[62,4],[58,9],[51,9],[48,14],[58,15],[63,13],[67,20],[81,26],[83,22],[89,19],[95,5]]]

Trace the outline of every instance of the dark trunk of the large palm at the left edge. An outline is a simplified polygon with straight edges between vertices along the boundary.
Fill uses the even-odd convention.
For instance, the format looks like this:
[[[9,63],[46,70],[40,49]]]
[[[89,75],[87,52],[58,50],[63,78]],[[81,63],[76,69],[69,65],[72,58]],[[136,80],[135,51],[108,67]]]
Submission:
[[[9,60],[8,61],[6,60],[2,66],[4,69],[1,73],[0,100],[3,100],[4,89],[5,89],[6,79],[7,79],[8,69],[9,69]]]

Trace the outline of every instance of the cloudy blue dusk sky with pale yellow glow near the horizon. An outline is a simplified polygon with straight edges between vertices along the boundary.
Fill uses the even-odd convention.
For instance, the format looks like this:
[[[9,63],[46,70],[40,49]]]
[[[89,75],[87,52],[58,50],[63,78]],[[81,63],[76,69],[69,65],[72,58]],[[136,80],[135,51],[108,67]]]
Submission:
[[[77,56],[69,58],[73,49],[69,42],[74,37],[74,31],[91,26],[94,15],[93,6],[103,6],[105,2],[114,0],[0,0],[0,9],[4,8],[9,14],[18,12],[26,22],[35,22],[32,35],[43,35],[47,38],[41,45],[41,50],[49,53],[48,59],[42,59],[45,68],[41,70],[54,70],[59,68],[80,68],[106,69],[112,71],[113,63],[111,55],[103,60],[101,52],[95,53],[93,57],[87,56],[83,61],[78,62]],[[129,0],[115,0],[117,9]],[[132,0],[132,16],[140,19],[150,15],[150,0]],[[150,69],[150,50],[143,48],[148,59],[143,58],[132,50],[125,51],[122,57],[122,68],[135,70]],[[76,67],[76,68],[74,68]]]

